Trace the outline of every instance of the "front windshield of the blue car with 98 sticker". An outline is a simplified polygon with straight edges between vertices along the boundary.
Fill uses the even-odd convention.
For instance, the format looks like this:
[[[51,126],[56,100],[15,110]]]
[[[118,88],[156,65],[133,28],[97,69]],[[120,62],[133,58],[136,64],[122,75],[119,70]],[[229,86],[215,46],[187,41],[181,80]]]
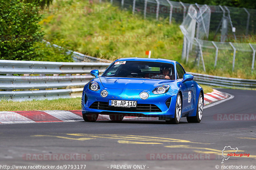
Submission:
[[[175,80],[173,64],[145,61],[112,63],[102,76]]]

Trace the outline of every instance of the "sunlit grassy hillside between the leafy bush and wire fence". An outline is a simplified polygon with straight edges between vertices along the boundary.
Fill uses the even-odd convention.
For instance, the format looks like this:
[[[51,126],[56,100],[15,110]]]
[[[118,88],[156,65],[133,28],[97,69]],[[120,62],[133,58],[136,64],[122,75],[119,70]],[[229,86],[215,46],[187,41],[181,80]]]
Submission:
[[[168,18],[144,20],[141,15],[132,15],[131,11],[120,10],[109,3],[68,2],[57,0],[53,6],[60,6],[60,9],[61,6],[86,6],[92,12],[46,13],[39,24],[43,26],[47,41],[61,39],[66,48],[111,60],[147,57],[145,51],[151,50],[152,58],[180,61],[183,34],[179,25],[169,25]]]

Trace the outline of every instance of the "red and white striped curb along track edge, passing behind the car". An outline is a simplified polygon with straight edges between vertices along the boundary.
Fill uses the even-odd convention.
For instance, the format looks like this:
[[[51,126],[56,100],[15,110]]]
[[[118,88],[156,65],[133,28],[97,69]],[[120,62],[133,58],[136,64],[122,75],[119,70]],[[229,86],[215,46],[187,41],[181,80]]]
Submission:
[[[213,89],[204,94],[204,108],[232,99],[234,96]],[[211,104],[212,103],[212,104]],[[108,115],[99,115],[97,120],[110,120]],[[156,117],[124,116],[124,120],[158,120]],[[42,122],[75,122],[83,121],[81,110],[45,110],[45,111],[4,111],[0,112],[0,124],[42,123]]]

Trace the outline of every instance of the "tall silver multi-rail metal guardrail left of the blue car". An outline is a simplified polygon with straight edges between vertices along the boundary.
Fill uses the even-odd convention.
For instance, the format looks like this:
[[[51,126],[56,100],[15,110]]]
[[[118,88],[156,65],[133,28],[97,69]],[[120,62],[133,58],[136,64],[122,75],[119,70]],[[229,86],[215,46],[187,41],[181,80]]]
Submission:
[[[94,69],[103,72],[109,64],[0,60],[0,89],[4,90],[0,91],[0,99],[51,100],[79,96],[83,86],[93,78],[88,73]]]

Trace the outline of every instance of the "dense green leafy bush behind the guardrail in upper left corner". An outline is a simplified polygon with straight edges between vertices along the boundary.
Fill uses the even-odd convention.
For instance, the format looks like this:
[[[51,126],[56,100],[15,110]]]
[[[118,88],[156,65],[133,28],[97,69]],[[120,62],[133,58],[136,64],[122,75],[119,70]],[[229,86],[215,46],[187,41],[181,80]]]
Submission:
[[[30,60],[34,42],[43,38],[37,4],[0,0],[0,9],[0,59]]]

